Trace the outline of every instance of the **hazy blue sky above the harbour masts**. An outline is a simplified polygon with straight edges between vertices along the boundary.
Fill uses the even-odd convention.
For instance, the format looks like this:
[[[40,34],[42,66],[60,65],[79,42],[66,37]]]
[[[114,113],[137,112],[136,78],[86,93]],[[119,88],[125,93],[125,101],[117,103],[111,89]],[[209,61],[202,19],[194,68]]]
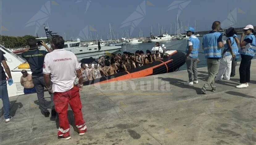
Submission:
[[[222,28],[256,25],[255,0],[0,0],[2,25],[0,34],[10,36],[36,35],[45,37],[43,23],[52,31],[65,33],[66,39],[87,39],[92,33],[107,39],[109,23],[117,37],[122,31],[134,29],[130,34],[150,36],[151,27],[157,35],[160,27],[174,33],[177,15],[183,30],[188,26],[196,31],[208,31],[213,21]],[[131,23],[132,22],[132,23]],[[112,35],[112,37],[114,37]]]

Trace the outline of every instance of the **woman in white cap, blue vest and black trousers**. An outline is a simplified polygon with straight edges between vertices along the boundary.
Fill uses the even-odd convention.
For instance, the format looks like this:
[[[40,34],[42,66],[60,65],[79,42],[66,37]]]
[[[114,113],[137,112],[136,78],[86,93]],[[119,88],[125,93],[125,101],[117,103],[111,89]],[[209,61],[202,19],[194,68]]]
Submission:
[[[252,25],[247,25],[243,30],[244,33],[240,40],[241,49],[239,50],[241,54],[241,63],[239,67],[240,85],[236,86],[236,88],[246,88],[249,86],[251,60],[256,53],[256,40],[255,35],[253,34],[254,27]]]

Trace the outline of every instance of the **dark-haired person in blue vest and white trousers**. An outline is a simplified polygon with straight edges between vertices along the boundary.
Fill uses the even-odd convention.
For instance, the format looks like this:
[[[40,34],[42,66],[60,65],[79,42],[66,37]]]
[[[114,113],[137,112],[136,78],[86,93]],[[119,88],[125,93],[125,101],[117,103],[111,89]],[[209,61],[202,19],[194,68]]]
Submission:
[[[220,67],[216,81],[222,81],[222,78],[225,80],[230,79],[232,60],[238,55],[238,47],[234,35],[237,35],[235,28],[230,27],[226,30],[226,37],[228,37],[226,44],[224,45],[225,49],[222,52],[222,58],[220,60]]]

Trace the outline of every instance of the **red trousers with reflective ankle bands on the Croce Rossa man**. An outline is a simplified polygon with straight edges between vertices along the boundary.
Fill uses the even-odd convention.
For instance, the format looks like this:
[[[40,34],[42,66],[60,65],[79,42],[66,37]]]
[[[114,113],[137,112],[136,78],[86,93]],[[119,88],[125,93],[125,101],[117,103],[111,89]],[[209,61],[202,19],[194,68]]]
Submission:
[[[79,133],[86,131],[86,125],[83,120],[82,103],[80,100],[78,86],[74,86],[72,89],[66,92],[54,92],[53,100],[55,110],[58,113],[59,129],[58,136],[69,136],[69,120],[68,120],[68,105],[73,110],[75,126],[78,128]]]

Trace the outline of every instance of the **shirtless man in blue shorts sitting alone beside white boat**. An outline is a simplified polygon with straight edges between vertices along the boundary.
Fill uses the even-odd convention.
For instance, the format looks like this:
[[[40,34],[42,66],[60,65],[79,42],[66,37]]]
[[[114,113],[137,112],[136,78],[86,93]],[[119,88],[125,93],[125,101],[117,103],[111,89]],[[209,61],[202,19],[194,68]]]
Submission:
[[[24,94],[36,93],[35,85],[33,84],[32,75],[26,70],[21,71],[20,83],[24,87]]]

